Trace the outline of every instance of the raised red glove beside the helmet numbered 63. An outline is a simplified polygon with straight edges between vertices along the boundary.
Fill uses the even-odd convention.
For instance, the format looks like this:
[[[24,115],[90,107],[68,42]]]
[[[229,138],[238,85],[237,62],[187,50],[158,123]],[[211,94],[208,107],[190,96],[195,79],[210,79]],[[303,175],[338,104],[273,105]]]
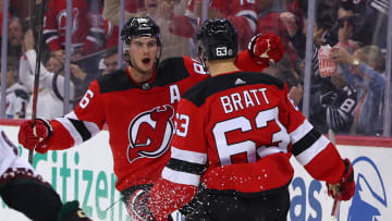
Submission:
[[[285,52],[282,39],[275,34],[259,34],[252,38],[248,44],[248,51],[252,57],[257,58],[257,63],[270,61],[279,62]]]

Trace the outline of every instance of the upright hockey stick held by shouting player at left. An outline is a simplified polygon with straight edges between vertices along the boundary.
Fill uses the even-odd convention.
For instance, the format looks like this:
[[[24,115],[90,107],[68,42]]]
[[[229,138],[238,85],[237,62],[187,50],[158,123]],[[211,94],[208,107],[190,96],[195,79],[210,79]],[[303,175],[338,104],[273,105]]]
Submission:
[[[32,121],[33,121],[33,133],[36,135],[36,115],[37,115],[37,100],[38,100],[38,89],[39,89],[39,72],[40,72],[40,60],[41,60],[41,47],[42,47],[42,32],[44,32],[44,12],[46,9],[47,0],[41,1],[41,5],[39,8],[39,23],[38,23],[38,38],[36,41],[36,50],[37,50],[37,60],[36,60],[36,69],[34,72],[34,90],[33,90],[33,110],[32,110]],[[28,151],[28,162],[33,164],[34,150],[30,149]]]

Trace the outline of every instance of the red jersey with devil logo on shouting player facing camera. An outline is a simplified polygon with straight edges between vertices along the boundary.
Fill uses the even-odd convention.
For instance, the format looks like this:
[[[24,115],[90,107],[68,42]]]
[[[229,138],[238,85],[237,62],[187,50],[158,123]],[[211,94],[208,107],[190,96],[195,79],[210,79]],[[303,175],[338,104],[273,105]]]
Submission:
[[[108,124],[117,188],[154,183],[168,161],[172,119],[181,95],[207,78],[191,58],[167,59],[150,82],[136,84],[125,71],[91,83],[75,110],[51,121],[50,149],[64,149],[90,138]]]

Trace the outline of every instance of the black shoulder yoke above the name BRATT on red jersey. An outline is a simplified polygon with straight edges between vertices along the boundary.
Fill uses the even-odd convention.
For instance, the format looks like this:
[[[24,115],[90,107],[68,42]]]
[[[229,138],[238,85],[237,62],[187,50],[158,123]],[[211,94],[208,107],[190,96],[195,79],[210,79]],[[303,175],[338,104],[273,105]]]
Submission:
[[[185,91],[183,98],[192,101],[195,106],[200,107],[206,99],[217,93],[242,87],[245,85],[266,84],[274,85],[280,90],[284,88],[284,83],[269,74],[254,72],[237,72],[233,74],[223,74],[216,77],[207,78]]]

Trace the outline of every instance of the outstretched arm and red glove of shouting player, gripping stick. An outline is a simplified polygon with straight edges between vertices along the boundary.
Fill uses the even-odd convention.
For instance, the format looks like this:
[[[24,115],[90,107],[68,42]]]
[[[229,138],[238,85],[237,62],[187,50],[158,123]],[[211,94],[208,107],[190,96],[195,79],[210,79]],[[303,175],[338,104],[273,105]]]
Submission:
[[[37,119],[21,124],[19,142],[26,149],[35,149],[40,154],[79,145],[96,135],[105,123],[102,98],[99,84],[93,82],[86,94],[70,113],[47,121]]]

